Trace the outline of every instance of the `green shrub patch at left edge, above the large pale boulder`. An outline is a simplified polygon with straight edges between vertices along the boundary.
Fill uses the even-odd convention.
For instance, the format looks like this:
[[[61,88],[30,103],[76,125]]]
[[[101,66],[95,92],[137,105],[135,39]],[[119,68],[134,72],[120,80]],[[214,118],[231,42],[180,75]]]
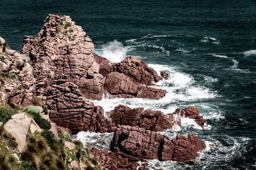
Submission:
[[[15,110],[11,108],[8,105],[1,105],[0,106],[0,122],[3,122],[3,124],[6,124],[8,120],[11,119],[12,115],[15,115],[18,113],[18,110]]]

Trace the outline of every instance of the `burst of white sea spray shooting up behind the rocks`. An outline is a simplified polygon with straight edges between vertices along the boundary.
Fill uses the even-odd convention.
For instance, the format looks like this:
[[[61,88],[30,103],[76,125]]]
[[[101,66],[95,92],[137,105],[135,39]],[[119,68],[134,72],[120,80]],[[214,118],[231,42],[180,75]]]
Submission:
[[[110,62],[122,61],[125,59],[126,53],[127,49],[116,39],[102,46],[102,57],[108,59]]]

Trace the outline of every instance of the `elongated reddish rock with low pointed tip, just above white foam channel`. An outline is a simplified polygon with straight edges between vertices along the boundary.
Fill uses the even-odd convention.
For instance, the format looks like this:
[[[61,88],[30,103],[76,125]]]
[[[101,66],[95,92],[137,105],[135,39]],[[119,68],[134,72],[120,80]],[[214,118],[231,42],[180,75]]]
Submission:
[[[125,74],[118,72],[112,72],[106,76],[105,88],[106,91],[111,94],[109,97],[159,99],[166,94],[166,90],[140,85],[125,76]]]

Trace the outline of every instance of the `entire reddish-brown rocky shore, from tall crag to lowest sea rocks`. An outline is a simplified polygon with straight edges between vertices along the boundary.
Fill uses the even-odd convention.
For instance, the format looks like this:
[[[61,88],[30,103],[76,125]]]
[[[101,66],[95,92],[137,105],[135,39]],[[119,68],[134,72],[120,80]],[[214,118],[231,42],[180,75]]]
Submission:
[[[87,163],[81,157],[71,159],[69,169],[136,169],[138,161],[149,159],[186,162],[204,150],[205,142],[192,133],[188,137],[178,135],[176,139],[159,133],[180,127],[180,118],[191,118],[204,128],[205,120],[195,106],[177,108],[165,115],[157,110],[118,105],[105,117],[102,106],[95,106],[90,100],[102,97],[157,100],[166,95],[166,90],[155,88],[154,83],[168,75],[164,71],[158,75],[135,57],[111,63],[93,53],[92,39],[70,17],[48,15],[35,37],[24,36],[20,53],[11,50],[3,38],[0,42],[1,104],[9,104],[16,110],[41,106],[38,114],[50,122],[56,140],[60,139],[58,129],[64,134],[114,132],[109,150],[89,148]],[[28,150],[29,132],[42,132],[35,121],[26,113],[19,113],[4,124],[15,137],[18,154]],[[13,122],[24,124],[21,125],[24,131],[18,134],[12,131],[16,124]],[[76,142],[66,141],[66,145],[72,150]],[[93,166],[90,157],[96,158],[99,166]]]

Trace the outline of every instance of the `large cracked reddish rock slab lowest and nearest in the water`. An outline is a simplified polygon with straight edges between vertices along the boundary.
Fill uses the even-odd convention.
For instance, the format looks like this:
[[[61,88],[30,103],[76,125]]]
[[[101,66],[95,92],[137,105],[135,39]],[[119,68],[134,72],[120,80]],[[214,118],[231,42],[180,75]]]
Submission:
[[[189,134],[169,139],[163,134],[139,127],[121,125],[115,131],[111,150],[142,159],[187,161],[195,159],[205,148],[204,141]]]

